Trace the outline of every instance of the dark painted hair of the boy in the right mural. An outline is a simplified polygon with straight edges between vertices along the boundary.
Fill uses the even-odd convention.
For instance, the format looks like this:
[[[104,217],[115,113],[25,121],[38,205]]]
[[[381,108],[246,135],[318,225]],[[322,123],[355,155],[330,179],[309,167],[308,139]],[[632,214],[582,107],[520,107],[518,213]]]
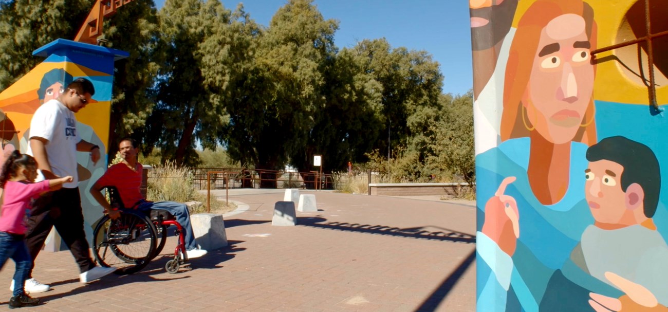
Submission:
[[[587,149],[587,160],[609,160],[621,164],[624,167],[619,179],[622,190],[626,192],[629,185],[639,184],[645,192],[645,216],[654,216],[661,191],[661,172],[659,160],[651,148],[623,136],[611,136]]]

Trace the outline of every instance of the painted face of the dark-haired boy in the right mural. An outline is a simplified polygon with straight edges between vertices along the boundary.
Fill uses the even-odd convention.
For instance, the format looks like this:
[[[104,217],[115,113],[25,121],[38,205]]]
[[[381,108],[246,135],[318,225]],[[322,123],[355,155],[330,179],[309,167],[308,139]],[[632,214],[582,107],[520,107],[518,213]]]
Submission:
[[[610,160],[589,162],[585,170],[585,198],[597,222],[619,224],[626,208],[625,192],[620,183],[624,167]]]

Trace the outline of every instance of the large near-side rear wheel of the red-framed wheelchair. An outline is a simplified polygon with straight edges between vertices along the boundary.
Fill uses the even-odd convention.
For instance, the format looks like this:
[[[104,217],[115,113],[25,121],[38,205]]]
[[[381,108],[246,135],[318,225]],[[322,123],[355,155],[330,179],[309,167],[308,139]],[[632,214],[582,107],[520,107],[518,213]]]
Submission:
[[[104,216],[93,233],[94,257],[116,274],[132,274],[148,265],[156,250],[156,228],[146,216],[122,212],[112,220]]]

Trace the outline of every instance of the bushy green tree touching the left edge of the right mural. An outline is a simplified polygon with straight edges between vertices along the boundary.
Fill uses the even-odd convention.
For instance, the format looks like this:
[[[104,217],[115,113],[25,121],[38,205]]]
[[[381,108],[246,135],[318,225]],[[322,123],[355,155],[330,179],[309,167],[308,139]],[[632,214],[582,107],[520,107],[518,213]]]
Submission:
[[[430,162],[444,171],[450,171],[465,182],[476,180],[476,161],[473,135],[473,92],[456,96],[444,102],[443,118],[432,126],[433,151]]]

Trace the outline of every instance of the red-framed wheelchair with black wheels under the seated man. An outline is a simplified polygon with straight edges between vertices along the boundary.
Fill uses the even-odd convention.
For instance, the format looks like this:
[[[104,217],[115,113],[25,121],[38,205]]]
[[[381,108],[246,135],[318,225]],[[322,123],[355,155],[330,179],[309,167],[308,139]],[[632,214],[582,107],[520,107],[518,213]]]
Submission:
[[[120,218],[102,216],[93,231],[93,254],[98,264],[116,268],[116,274],[128,275],[144,269],[160,252],[167,241],[167,226],[174,225],[178,245],[174,259],[167,261],[168,273],[176,273],[187,261],[184,230],[172,214],[165,210],[150,210],[148,214],[123,206],[118,190],[105,187],[112,207],[118,207]]]

